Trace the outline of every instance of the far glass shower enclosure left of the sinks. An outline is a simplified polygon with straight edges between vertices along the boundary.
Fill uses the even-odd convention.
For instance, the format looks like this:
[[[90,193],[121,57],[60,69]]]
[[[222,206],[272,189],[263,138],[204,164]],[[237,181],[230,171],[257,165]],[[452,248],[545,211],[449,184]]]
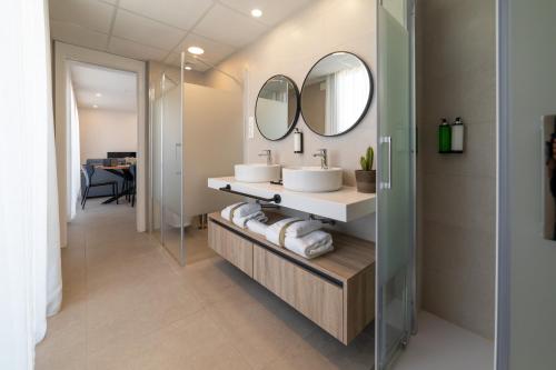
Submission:
[[[244,150],[241,81],[232,78],[231,87],[189,83],[185,60],[182,53],[180,70],[170,67],[155,78],[149,130],[150,231],[181,266],[214,256],[207,213],[237,197],[209,189],[207,179],[234,173]]]

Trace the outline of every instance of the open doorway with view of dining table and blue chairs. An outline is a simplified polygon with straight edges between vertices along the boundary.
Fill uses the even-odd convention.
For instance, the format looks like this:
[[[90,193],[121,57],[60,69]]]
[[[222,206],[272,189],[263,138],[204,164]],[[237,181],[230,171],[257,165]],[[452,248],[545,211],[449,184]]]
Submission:
[[[137,73],[70,62],[68,97],[68,219],[93,204],[133,208]]]

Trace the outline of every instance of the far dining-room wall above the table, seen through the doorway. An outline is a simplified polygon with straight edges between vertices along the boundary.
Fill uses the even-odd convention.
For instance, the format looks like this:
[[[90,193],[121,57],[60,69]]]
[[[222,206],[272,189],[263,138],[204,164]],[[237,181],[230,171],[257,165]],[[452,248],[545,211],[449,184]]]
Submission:
[[[79,108],[81,163],[108,151],[137,151],[137,114]]]

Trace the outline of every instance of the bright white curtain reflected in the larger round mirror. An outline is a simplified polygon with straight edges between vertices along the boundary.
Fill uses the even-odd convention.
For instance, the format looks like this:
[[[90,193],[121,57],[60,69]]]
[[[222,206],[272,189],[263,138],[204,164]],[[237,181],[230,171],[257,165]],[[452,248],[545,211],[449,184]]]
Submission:
[[[361,114],[368,93],[369,78],[364,66],[329,74],[326,80],[326,133],[348,130]]]

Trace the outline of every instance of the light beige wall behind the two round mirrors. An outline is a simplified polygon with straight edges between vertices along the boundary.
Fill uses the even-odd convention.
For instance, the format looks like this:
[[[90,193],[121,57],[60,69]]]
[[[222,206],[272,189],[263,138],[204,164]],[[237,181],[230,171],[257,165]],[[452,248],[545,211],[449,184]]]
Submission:
[[[259,89],[269,77],[286,74],[301,89],[305,76],[312,64],[332,51],[355,52],[376,76],[375,24],[374,0],[316,1],[252,46],[224,61],[219,68],[238,79],[247,77],[244,97],[247,100],[247,116],[252,117]],[[231,79],[217,71],[208,73],[207,82],[224,89],[238,89]],[[376,116],[374,100],[357,129],[338,138],[317,136],[299,117],[297,127],[304,132],[304,154],[294,153],[291,134],[280,141],[268,141],[255,129],[255,138],[245,140],[244,156],[248,162],[260,162],[257,154],[264,149],[271,149],[275,161],[282,164],[318,164],[319,161],[312,158],[312,153],[319,148],[327,148],[330,164],[344,168],[345,182],[355,184],[354,170],[358,168],[359,157],[369,144],[376,147]],[[247,123],[247,119],[245,122]],[[245,132],[248,132],[247,128]]]

